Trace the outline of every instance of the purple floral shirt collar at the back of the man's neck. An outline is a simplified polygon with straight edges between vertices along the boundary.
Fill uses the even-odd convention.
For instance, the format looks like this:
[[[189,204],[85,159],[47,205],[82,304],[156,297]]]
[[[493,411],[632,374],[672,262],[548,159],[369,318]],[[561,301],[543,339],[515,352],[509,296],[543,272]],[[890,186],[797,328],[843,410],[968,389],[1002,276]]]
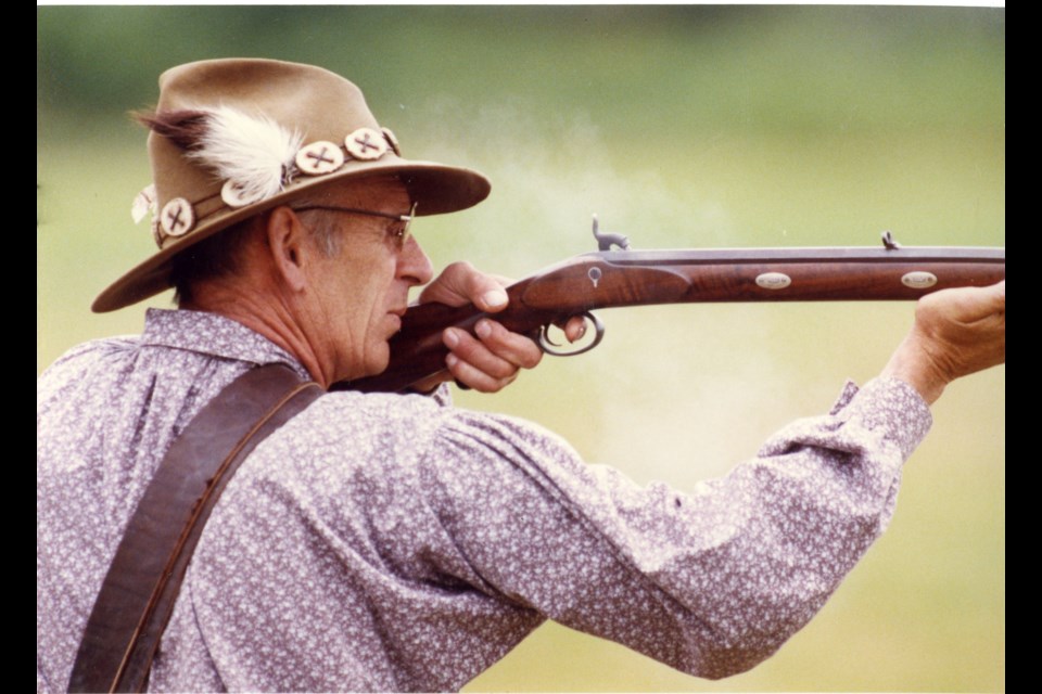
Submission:
[[[186,349],[258,365],[282,363],[302,377],[312,380],[307,370],[288,351],[242,323],[217,313],[150,308],[144,318],[141,344]]]

